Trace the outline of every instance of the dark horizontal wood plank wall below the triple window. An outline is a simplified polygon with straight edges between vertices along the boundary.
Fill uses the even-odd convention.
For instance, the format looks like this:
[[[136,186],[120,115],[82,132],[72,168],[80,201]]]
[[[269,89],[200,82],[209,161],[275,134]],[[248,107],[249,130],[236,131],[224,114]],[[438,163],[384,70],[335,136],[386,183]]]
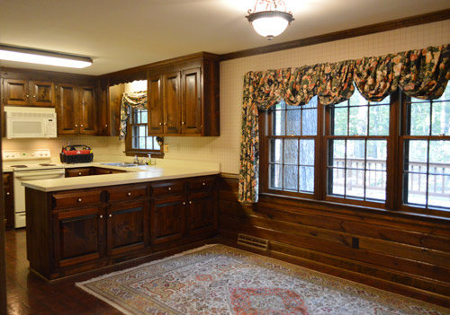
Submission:
[[[266,239],[256,252],[450,308],[448,221],[273,196],[241,205],[232,174],[222,174],[219,199],[220,241],[230,246],[252,250],[238,233]]]

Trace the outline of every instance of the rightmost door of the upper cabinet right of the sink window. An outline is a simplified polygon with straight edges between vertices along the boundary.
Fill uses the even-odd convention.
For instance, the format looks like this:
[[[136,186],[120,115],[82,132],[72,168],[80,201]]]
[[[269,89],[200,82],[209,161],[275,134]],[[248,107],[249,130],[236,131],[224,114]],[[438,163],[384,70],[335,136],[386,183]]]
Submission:
[[[181,74],[183,134],[202,134],[202,91],[201,70],[185,70]]]

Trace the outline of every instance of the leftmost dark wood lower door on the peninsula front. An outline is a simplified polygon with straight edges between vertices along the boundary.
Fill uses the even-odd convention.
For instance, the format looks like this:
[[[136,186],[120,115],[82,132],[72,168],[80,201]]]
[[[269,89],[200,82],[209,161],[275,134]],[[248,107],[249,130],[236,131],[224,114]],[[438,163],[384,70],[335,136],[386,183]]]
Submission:
[[[101,207],[53,214],[56,267],[66,267],[103,256],[104,219]]]

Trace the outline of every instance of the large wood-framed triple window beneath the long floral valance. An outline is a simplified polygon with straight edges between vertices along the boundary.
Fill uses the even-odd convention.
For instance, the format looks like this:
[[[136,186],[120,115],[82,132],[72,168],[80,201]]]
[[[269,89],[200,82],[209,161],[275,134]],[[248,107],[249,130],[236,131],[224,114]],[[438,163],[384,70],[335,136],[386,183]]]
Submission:
[[[260,119],[262,193],[450,216],[450,84],[436,101],[356,91]]]

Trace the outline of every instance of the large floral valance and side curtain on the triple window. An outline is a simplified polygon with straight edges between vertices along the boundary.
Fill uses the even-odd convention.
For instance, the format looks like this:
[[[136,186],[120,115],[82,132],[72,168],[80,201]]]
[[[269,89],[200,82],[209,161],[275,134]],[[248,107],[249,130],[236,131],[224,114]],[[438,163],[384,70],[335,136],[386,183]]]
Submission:
[[[323,105],[348,100],[356,89],[382,101],[401,89],[424,100],[439,98],[450,79],[450,44],[299,68],[248,72],[244,77],[239,201],[256,203],[259,189],[258,110],[282,99],[304,105],[318,95]]]

